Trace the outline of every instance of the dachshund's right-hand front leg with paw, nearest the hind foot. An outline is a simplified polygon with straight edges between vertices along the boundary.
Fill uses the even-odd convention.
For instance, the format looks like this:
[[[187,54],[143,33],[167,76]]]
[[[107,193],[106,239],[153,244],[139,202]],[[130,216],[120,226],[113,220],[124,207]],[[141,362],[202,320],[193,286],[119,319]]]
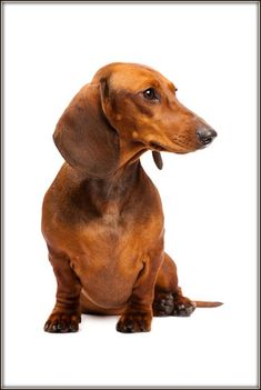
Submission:
[[[117,330],[122,333],[149,332],[153,317],[154,284],[163,254],[148,257],[133,286],[128,307],[121,314]]]

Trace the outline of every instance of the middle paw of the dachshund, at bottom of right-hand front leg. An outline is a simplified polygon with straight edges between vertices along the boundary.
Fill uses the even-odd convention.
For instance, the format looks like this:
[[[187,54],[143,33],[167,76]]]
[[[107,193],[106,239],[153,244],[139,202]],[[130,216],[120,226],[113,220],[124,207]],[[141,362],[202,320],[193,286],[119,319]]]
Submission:
[[[149,332],[151,321],[150,312],[124,313],[117,323],[117,330],[121,333]]]

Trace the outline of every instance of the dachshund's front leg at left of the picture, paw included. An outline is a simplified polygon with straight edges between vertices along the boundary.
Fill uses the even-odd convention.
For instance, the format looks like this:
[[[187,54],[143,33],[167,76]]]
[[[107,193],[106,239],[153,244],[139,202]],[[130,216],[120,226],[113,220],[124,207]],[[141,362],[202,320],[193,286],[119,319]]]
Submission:
[[[51,333],[76,332],[81,321],[81,284],[66,256],[49,251],[49,260],[57,278],[57,302],[44,324]]]

